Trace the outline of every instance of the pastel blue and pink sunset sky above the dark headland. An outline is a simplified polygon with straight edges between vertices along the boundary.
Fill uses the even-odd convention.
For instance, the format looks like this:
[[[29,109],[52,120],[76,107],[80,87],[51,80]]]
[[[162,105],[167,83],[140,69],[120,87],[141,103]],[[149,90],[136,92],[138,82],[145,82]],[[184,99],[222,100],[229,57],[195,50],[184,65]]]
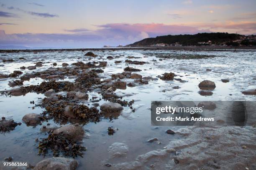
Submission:
[[[0,47],[102,47],[159,35],[256,34],[256,0],[0,0]]]

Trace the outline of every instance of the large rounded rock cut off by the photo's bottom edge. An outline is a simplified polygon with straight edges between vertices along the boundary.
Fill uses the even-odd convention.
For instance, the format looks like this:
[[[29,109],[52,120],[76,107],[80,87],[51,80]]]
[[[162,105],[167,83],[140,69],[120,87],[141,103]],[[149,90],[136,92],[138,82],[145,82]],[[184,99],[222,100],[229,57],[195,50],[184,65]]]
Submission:
[[[72,158],[53,157],[40,161],[33,170],[76,170],[78,162]]]

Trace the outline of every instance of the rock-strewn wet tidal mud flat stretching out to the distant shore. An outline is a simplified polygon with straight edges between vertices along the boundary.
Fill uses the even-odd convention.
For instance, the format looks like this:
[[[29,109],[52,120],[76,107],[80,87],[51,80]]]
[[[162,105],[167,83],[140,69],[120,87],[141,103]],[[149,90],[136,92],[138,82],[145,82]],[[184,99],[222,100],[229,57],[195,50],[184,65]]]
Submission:
[[[151,100],[255,101],[252,48],[1,50],[0,59],[1,161],[256,169],[255,126],[154,127],[150,115]]]

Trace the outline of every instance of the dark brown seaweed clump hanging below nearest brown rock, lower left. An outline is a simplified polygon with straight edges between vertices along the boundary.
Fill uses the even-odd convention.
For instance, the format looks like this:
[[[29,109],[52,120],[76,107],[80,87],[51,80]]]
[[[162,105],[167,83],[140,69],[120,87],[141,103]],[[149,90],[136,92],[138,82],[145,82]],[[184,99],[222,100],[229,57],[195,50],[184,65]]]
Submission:
[[[37,148],[39,149],[38,155],[43,154],[44,157],[49,149],[53,151],[55,157],[59,156],[61,152],[64,156],[72,156],[73,158],[76,158],[77,155],[83,158],[83,152],[86,151],[86,148],[77,141],[69,140],[61,133],[49,133],[48,138],[43,138]]]

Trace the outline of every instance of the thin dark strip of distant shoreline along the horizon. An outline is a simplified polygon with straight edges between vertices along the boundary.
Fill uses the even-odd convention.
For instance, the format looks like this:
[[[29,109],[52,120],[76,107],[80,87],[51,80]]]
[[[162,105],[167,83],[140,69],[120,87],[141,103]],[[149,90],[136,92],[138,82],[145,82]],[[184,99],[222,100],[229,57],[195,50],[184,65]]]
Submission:
[[[199,47],[199,46],[182,46],[182,47],[100,47],[100,48],[49,48],[49,49],[0,49],[0,53],[4,52],[53,52],[53,51],[100,51],[100,50],[198,50],[198,51],[218,51],[218,50],[256,50],[256,46],[244,47]]]

